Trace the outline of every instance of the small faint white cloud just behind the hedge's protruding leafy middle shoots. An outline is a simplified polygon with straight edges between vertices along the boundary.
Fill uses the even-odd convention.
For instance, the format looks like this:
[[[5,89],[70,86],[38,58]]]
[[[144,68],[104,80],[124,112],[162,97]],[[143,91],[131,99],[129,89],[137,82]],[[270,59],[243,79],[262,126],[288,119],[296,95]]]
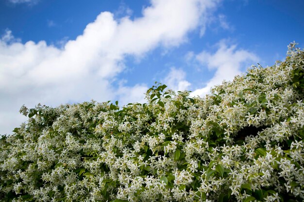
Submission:
[[[162,82],[168,85],[169,89],[184,91],[191,85],[185,78],[186,73],[182,69],[172,67],[169,74]]]

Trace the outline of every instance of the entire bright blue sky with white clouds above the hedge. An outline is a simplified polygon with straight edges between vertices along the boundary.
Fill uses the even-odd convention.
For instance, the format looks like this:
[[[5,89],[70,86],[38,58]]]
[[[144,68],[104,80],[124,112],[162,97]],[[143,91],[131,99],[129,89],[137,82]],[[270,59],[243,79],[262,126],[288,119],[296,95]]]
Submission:
[[[304,47],[303,0],[1,0],[0,134],[22,105],[144,102],[154,81],[204,96]]]

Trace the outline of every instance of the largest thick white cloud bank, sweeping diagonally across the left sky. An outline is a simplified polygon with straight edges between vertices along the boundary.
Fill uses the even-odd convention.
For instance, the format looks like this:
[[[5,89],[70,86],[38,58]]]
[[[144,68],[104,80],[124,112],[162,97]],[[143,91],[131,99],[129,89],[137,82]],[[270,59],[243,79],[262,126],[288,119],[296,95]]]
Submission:
[[[11,0],[30,2],[30,0]],[[187,40],[189,31],[203,24],[202,16],[218,0],[152,0],[143,16],[115,20],[102,12],[82,35],[57,48],[40,41],[0,40],[0,134],[20,124],[18,109],[25,104],[57,106],[95,99],[140,101],[144,85],[134,87],[112,83],[126,67],[124,57],[141,57],[155,47],[175,47]],[[181,84],[184,88],[187,84]],[[122,93],[129,92],[128,93]],[[122,95],[120,95],[122,93]],[[137,96],[138,95],[138,96]],[[23,118],[24,119],[24,118]]]

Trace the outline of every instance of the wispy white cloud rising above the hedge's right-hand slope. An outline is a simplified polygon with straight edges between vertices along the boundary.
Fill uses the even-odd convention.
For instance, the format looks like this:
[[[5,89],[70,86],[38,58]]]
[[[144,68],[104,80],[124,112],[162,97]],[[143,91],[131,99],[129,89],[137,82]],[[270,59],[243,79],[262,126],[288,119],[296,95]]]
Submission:
[[[203,88],[196,89],[190,93],[191,96],[204,96],[210,93],[211,87],[221,84],[223,80],[233,80],[236,75],[240,75],[242,73],[242,65],[258,62],[258,57],[254,53],[237,49],[236,45],[228,46],[225,41],[221,41],[218,47],[214,54],[203,51],[196,55],[198,62],[202,65],[207,65],[209,70],[216,70],[216,72]]]

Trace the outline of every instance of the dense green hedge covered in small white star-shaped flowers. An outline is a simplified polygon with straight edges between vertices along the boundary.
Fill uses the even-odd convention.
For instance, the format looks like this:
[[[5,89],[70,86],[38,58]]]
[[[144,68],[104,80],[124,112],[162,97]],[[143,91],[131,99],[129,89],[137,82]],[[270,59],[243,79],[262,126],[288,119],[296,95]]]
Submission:
[[[203,98],[156,84],[147,103],[22,107],[0,140],[13,202],[304,200],[304,52]]]

